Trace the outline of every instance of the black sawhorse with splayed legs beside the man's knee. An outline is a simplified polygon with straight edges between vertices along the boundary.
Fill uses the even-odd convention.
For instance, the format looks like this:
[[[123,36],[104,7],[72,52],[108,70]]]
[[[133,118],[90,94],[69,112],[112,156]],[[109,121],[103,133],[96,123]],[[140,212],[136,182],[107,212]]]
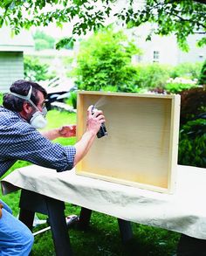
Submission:
[[[32,229],[35,212],[49,218],[56,255],[72,256],[70,237],[65,222],[65,203],[38,193],[22,190],[19,219]]]

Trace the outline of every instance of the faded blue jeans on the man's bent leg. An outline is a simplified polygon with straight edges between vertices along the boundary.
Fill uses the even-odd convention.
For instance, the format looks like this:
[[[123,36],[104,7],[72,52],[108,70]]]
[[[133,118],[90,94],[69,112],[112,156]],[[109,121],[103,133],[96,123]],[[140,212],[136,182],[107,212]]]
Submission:
[[[33,235],[29,228],[12,215],[10,207],[3,204],[0,218],[0,256],[27,256],[33,245]]]

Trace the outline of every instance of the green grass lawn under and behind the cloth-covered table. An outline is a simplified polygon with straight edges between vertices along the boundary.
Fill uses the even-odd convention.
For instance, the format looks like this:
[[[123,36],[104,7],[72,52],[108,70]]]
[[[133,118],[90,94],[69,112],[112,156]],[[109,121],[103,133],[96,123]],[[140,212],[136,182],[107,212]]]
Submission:
[[[49,111],[47,115],[48,127],[58,128],[64,124],[76,123],[76,114]],[[60,138],[56,142],[63,145],[75,143],[75,138]],[[23,167],[30,163],[18,161],[10,171]],[[20,192],[11,193],[1,198],[10,205],[14,216],[18,214],[18,200]],[[72,204],[65,204],[65,216],[70,214],[79,215],[80,207]],[[38,218],[46,218],[38,214]],[[45,225],[38,225],[34,232],[44,228]],[[79,231],[72,228],[70,233],[72,251],[74,255],[95,256],[95,255],[138,255],[138,256],[172,256],[175,254],[175,248],[180,235],[176,232],[168,232],[160,228],[154,228],[147,225],[132,224],[134,239],[127,245],[123,245],[120,240],[120,232],[117,218],[93,211],[91,223],[86,231]],[[52,243],[51,231],[41,233],[35,237],[32,248],[32,256],[51,256],[55,255]]]

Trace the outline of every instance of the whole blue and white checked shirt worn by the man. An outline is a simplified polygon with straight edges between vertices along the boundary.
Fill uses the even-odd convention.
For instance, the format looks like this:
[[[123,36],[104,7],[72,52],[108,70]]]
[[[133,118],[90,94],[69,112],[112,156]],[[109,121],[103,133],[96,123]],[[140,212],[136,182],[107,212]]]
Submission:
[[[17,160],[57,171],[71,170],[76,149],[53,143],[19,114],[0,107],[0,176]]]

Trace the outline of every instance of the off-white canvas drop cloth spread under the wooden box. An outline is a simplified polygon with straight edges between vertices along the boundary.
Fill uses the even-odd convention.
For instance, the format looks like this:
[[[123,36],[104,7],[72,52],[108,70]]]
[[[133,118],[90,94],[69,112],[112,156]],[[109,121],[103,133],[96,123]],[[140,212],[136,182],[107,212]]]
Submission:
[[[3,194],[19,188],[144,225],[206,239],[206,169],[178,166],[173,195],[36,165],[3,178]]]

